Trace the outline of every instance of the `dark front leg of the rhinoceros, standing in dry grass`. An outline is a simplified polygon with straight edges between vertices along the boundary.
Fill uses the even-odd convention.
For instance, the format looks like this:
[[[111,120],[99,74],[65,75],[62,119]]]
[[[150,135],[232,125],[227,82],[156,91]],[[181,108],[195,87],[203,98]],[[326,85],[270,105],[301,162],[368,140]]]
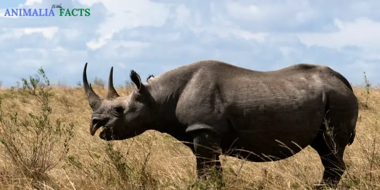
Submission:
[[[214,173],[217,177],[222,175],[222,166],[219,160],[220,137],[204,125],[192,126],[187,130],[193,138],[193,153],[196,156],[196,173],[198,179]],[[194,129],[194,130],[191,130]]]

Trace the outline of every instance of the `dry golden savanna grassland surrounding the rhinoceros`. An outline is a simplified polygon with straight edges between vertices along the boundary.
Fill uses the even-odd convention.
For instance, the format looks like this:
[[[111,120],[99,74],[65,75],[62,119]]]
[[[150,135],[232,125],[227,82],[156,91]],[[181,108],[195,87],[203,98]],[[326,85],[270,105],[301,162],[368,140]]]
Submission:
[[[91,108],[83,87],[50,85],[43,70],[0,90],[0,189],[54,190],[294,190],[317,184],[323,167],[307,147],[277,162],[252,163],[221,156],[224,188],[195,181],[195,157],[167,134],[147,131],[119,142],[91,136]],[[380,90],[355,87],[360,101],[356,138],[346,148],[339,189],[380,189]],[[96,79],[93,88],[105,97]],[[131,86],[117,88],[120,95]]]

